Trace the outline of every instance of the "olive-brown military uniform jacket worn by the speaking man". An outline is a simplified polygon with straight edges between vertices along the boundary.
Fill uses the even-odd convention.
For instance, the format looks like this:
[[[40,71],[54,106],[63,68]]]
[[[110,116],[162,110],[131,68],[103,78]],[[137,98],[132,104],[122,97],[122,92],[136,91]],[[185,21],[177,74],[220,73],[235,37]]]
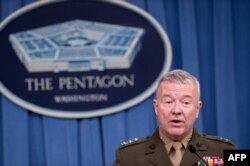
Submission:
[[[224,149],[236,149],[229,140],[202,135],[193,130],[192,138],[188,145],[193,145],[201,156],[219,156],[223,158]],[[200,159],[197,155],[185,150],[180,166],[197,165]],[[223,160],[224,161],[224,160]],[[159,131],[147,138],[130,141],[121,145],[116,151],[114,166],[171,166],[172,163],[165,149],[164,143],[159,137]]]

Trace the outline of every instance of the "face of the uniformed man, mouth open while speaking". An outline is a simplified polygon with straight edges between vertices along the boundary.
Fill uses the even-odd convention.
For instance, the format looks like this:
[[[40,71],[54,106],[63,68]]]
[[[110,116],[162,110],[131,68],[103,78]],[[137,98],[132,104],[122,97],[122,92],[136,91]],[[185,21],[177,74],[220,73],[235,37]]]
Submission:
[[[194,85],[162,82],[154,100],[160,130],[170,139],[183,139],[193,128],[201,101]]]

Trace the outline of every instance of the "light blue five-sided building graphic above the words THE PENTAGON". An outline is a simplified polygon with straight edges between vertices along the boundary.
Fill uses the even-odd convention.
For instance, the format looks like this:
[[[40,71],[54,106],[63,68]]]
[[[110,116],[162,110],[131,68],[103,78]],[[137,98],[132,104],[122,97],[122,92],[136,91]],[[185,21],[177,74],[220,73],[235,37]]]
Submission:
[[[10,34],[9,40],[29,72],[126,69],[142,43],[144,30],[72,20]]]

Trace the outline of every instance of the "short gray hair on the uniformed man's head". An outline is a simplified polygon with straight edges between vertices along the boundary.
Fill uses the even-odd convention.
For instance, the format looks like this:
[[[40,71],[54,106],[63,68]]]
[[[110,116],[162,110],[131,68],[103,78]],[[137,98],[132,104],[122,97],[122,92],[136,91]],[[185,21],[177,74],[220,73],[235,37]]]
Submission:
[[[178,83],[178,84],[187,84],[187,85],[196,86],[198,99],[200,99],[200,83],[195,76],[188,73],[187,71],[176,69],[176,70],[172,70],[172,71],[168,72],[160,79],[158,86],[157,86],[157,91],[158,91],[161,83],[165,82],[165,81]],[[157,91],[156,91],[156,95],[158,93]]]

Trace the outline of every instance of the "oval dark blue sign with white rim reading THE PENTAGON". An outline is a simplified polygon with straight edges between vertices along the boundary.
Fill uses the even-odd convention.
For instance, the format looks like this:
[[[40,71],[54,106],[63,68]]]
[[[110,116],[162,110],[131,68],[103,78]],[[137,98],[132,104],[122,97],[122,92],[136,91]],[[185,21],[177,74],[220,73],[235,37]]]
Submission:
[[[172,60],[160,24],[125,1],[36,2],[2,21],[0,35],[1,93],[53,117],[132,107],[152,95]]]

